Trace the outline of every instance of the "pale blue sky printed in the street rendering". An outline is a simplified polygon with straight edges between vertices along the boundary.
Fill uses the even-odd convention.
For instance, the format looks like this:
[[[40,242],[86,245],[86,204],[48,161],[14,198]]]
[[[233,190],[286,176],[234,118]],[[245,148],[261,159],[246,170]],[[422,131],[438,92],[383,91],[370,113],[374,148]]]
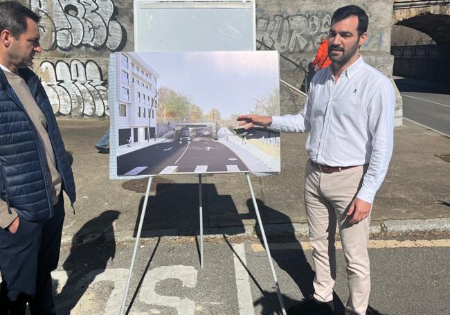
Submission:
[[[158,87],[190,96],[206,114],[248,114],[255,98],[279,89],[278,52],[136,53],[159,73]]]

